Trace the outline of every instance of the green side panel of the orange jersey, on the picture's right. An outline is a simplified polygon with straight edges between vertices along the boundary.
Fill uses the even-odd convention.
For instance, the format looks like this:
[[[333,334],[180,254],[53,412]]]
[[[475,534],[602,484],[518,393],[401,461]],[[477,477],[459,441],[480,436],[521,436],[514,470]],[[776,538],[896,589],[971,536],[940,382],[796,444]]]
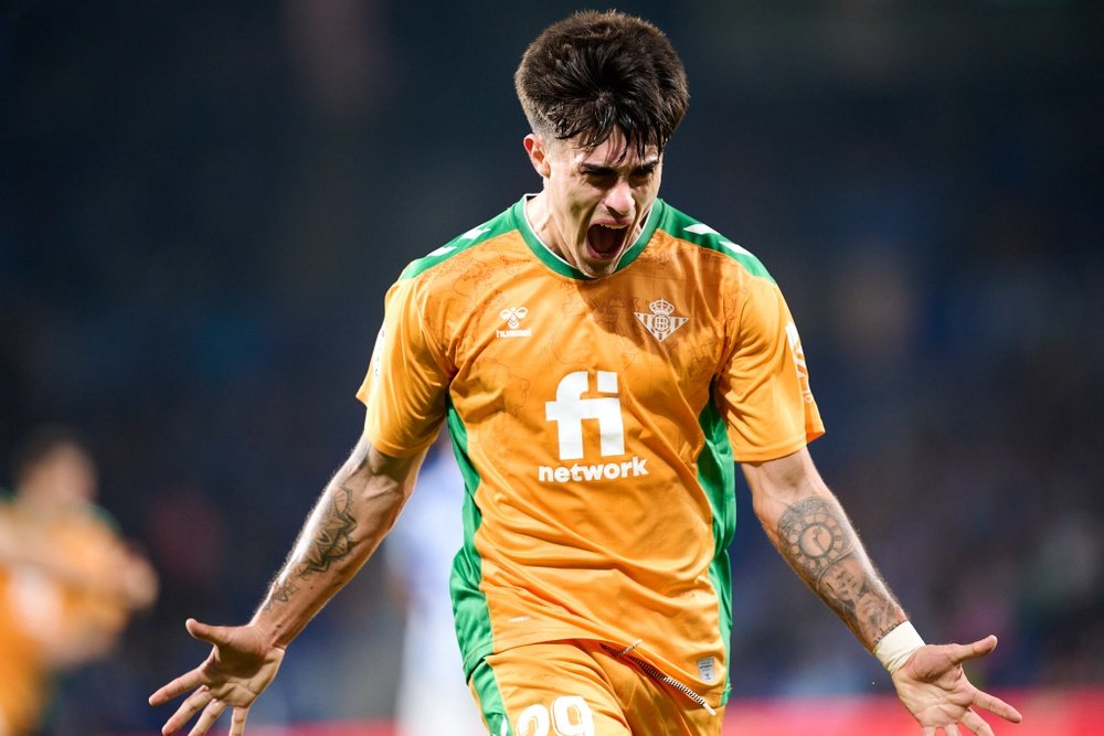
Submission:
[[[732,632],[732,565],[729,561],[729,544],[736,531],[735,463],[724,420],[712,401],[705,404],[698,423],[705,435],[705,444],[698,456],[698,483],[705,491],[713,511],[713,562],[709,566],[709,579],[716,590],[724,661],[731,670],[729,637]],[[722,702],[729,700],[731,682],[731,676],[726,675]]]

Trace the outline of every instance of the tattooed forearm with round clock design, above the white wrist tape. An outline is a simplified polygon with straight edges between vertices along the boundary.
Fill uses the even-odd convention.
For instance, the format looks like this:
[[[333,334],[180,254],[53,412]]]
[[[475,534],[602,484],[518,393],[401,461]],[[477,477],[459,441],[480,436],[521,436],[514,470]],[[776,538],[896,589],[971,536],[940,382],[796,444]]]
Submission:
[[[873,646],[903,620],[839,506],[815,497],[798,501],[779,518],[778,541],[790,566],[859,639]]]

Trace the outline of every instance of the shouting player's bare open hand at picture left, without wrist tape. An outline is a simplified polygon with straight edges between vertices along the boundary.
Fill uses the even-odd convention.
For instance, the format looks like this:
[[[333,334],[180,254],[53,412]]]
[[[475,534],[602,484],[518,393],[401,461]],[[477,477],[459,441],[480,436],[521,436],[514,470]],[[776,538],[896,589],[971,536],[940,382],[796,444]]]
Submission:
[[[188,633],[213,644],[214,649],[198,668],[149,696],[150,705],[163,705],[194,690],[164,722],[161,733],[174,734],[202,711],[189,736],[205,734],[222,712],[232,707],[230,736],[243,736],[250,706],[276,676],[284,661],[284,649],[267,643],[255,626],[208,626],[191,618],[184,626]]]

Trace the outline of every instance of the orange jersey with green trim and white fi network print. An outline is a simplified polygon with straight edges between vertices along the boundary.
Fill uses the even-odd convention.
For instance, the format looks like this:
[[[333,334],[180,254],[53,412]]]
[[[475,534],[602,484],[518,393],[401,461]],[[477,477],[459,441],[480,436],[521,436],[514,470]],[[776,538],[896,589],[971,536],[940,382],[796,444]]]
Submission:
[[[752,254],[657,200],[588,279],[522,199],[388,292],[360,398],[382,452],[448,422],[465,472],[453,570],[470,673],[522,644],[629,647],[728,697],[734,465],[824,433],[782,292]]]

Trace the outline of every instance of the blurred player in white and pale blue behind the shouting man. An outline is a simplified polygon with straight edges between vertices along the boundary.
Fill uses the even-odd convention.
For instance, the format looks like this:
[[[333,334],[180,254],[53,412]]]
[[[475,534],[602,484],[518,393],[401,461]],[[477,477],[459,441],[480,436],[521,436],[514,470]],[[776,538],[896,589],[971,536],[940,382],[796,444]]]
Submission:
[[[399,736],[487,733],[464,684],[448,579],[464,543],[464,477],[448,431],[429,448],[417,484],[383,544],[406,614],[395,726]]]

